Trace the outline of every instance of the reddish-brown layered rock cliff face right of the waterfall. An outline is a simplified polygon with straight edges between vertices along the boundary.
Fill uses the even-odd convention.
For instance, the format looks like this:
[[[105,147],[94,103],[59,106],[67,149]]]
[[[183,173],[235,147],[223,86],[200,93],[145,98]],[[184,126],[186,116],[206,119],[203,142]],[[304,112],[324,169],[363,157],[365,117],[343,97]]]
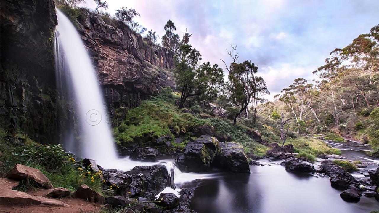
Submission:
[[[174,87],[172,52],[149,44],[128,27],[113,27],[82,10],[78,31],[96,66],[108,109],[132,108],[163,86]]]

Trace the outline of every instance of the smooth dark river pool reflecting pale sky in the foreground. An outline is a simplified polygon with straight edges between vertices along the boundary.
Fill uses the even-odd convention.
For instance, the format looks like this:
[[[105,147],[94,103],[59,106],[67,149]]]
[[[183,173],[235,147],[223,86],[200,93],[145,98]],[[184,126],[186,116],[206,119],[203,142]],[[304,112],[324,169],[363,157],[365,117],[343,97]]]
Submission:
[[[251,166],[251,171],[203,180],[191,209],[198,213],[367,213],[378,208],[374,198],[365,196],[359,203],[345,202],[328,178],[287,172],[280,165]]]

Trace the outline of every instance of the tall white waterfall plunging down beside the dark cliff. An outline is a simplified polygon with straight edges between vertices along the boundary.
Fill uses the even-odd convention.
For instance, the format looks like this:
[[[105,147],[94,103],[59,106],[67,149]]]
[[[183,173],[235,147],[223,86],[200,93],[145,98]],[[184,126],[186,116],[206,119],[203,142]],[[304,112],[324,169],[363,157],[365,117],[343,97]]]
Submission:
[[[92,158],[97,164],[110,167],[117,153],[96,72],[74,25],[59,9],[56,14],[57,87],[61,96],[72,92],[80,131],[80,138],[64,142],[64,147],[78,157]]]

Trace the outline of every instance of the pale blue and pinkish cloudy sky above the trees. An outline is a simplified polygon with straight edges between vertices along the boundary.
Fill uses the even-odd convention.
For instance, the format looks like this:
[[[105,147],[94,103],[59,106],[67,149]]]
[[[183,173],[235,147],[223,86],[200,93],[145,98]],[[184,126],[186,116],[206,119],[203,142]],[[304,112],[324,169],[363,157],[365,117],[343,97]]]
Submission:
[[[238,62],[258,66],[273,100],[295,78],[309,81],[329,53],[350,44],[359,34],[379,24],[379,0],[108,0],[105,11],[114,15],[122,6],[136,9],[135,20],[161,36],[171,19],[182,37],[193,33],[190,44],[224,68],[231,58],[226,49],[236,44]],[[94,9],[93,0],[85,6]],[[160,39],[159,39],[160,40]],[[224,69],[227,78],[227,70]]]

